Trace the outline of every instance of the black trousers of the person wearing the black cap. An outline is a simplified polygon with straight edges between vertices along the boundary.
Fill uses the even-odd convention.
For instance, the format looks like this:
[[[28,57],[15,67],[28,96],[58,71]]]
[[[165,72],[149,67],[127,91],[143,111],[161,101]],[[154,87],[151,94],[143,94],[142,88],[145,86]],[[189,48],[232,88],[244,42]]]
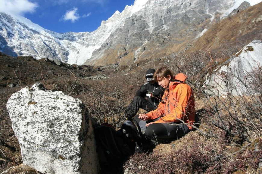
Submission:
[[[136,96],[126,108],[124,116],[126,118],[133,118],[138,112],[139,108],[142,108],[146,111],[152,111],[157,109],[157,107],[155,107],[154,104],[152,104],[147,99],[140,96]]]

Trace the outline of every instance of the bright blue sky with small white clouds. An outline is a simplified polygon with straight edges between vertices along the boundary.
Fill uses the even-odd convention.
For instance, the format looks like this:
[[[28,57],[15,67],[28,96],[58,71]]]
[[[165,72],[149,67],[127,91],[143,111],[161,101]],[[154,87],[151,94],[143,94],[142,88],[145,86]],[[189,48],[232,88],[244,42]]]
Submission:
[[[0,11],[15,13],[53,32],[92,32],[116,10],[135,0],[0,0]]]

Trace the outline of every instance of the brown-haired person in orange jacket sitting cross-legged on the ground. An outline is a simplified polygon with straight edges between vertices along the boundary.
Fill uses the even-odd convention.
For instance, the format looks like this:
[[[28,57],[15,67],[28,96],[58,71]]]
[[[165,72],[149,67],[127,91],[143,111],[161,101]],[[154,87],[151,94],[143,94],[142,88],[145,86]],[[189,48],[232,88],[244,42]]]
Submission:
[[[191,87],[184,83],[186,76],[179,73],[174,78],[170,69],[162,67],[156,70],[154,79],[165,91],[156,110],[138,116],[145,138],[161,143],[182,137],[195,122],[195,100]]]

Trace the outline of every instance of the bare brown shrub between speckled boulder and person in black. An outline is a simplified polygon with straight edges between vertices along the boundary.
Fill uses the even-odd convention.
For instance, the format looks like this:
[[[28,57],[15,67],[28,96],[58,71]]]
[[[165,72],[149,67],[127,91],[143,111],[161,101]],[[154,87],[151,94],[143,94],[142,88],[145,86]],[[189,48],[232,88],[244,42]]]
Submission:
[[[78,96],[98,123],[115,125],[123,119],[123,111],[141,85],[139,81],[137,76],[123,76],[94,82]]]

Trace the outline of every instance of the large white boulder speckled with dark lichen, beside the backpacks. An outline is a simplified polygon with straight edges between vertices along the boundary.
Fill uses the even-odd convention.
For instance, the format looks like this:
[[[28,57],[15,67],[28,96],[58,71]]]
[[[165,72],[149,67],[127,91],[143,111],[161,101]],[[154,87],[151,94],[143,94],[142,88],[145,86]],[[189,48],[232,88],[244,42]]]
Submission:
[[[24,164],[42,173],[99,173],[91,120],[79,99],[36,83],[6,106]]]

